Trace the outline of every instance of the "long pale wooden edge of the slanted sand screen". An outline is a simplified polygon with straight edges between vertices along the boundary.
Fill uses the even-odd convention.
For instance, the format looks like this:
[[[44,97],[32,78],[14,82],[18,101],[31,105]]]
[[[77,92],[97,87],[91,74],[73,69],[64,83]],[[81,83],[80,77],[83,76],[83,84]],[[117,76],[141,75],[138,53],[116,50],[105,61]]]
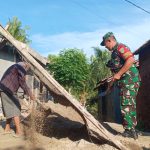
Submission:
[[[81,115],[84,119],[87,128],[89,129],[92,136],[99,140],[109,142],[111,145],[119,149],[126,149],[115,137],[109,133],[80,103],[69,94],[29,53],[26,51],[26,47],[22,48],[21,44],[17,42],[2,26],[0,26],[0,33],[12,43],[18,52],[31,64],[33,72],[39,79],[47,85],[47,87],[53,92],[60,96],[63,96],[71,106]],[[55,90],[54,90],[55,89]],[[60,101],[61,103],[61,101]]]

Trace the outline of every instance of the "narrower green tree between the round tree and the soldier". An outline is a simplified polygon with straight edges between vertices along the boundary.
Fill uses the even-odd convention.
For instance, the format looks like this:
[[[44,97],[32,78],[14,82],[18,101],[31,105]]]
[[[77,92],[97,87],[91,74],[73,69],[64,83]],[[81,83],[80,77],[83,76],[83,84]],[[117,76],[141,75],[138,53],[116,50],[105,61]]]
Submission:
[[[101,50],[99,47],[93,47],[95,55],[91,56],[90,63],[90,80],[89,80],[89,94],[86,103],[87,110],[97,117],[98,103],[97,91],[93,91],[96,84],[111,75],[109,68],[106,67],[106,63],[110,59],[110,53],[106,50]]]

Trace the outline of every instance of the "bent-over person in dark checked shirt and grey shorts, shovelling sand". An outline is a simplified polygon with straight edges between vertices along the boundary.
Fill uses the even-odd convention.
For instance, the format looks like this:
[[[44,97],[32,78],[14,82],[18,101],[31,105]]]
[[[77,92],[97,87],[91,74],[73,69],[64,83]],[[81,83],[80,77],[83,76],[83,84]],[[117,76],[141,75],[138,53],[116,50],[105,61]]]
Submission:
[[[10,133],[10,123],[12,119],[16,127],[15,137],[22,135],[20,127],[21,105],[17,97],[17,91],[21,87],[25,94],[35,100],[34,95],[26,84],[26,73],[30,66],[26,62],[19,62],[10,66],[4,73],[0,81],[1,99],[4,115],[6,117],[6,125],[4,133]]]

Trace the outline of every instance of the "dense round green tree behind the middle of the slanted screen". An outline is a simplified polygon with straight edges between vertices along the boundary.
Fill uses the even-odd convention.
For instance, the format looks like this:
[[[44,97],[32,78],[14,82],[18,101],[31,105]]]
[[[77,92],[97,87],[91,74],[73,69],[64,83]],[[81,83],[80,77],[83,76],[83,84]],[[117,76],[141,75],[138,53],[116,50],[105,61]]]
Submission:
[[[80,49],[64,49],[59,57],[49,55],[49,70],[54,78],[77,98],[87,91],[89,63]]]

